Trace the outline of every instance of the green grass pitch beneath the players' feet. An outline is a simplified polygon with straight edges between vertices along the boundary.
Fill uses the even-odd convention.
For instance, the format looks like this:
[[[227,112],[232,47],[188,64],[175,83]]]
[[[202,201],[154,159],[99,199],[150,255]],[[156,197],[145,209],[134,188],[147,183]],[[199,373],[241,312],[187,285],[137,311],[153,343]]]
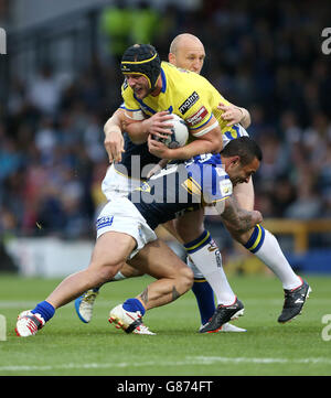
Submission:
[[[331,277],[303,276],[312,288],[300,316],[277,323],[284,300],[277,279],[231,277],[245,304],[236,325],[247,333],[199,334],[193,293],[149,311],[145,323],[156,336],[127,335],[107,321],[109,310],[135,297],[149,277],[105,286],[94,318],[82,323],[74,304],[57,310],[36,336],[17,337],[15,319],[56,287],[58,280],[0,275],[0,314],[7,341],[0,341],[0,376],[327,376],[331,375]]]

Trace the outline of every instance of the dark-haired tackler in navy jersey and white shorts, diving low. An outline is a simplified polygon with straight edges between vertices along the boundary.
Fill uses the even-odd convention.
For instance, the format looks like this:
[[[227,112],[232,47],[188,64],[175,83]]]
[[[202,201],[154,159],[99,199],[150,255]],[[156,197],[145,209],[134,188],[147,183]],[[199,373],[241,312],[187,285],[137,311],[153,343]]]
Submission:
[[[157,280],[138,297],[114,308],[109,322],[127,333],[145,329],[142,316],[146,311],[174,301],[193,282],[192,270],[157,238],[154,228],[159,223],[173,219],[178,212],[207,204],[215,206],[217,213],[231,219],[238,229],[248,230],[261,222],[261,214],[239,208],[232,189],[248,181],[260,160],[259,147],[243,137],[233,140],[221,154],[206,153],[172,164],[167,172],[154,175],[128,197],[109,201],[96,222],[97,239],[88,268],[68,276],[34,309],[20,313],[15,327],[18,336],[35,335],[58,308],[84,291],[105,283],[126,261],[131,261],[134,267]],[[169,180],[171,173],[175,179]],[[167,200],[169,194],[171,201]],[[215,332],[243,312],[244,305],[235,297],[233,305],[218,305],[201,332]],[[148,331],[146,334],[152,333]]]

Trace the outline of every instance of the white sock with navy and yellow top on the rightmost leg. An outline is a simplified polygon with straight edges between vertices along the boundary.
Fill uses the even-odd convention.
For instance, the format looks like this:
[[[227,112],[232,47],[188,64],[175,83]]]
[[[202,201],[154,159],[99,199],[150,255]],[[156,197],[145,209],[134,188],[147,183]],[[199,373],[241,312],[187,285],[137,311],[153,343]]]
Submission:
[[[301,284],[301,279],[287,261],[278,240],[261,225],[255,226],[254,233],[244,246],[278,277],[284,289],[290,290]]]

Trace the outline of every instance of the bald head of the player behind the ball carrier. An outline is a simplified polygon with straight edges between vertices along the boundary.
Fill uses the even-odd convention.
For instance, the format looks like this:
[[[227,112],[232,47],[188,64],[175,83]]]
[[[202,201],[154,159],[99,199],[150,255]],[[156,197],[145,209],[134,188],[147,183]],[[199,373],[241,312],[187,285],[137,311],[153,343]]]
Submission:
[[[170,44],[169,62],[178,67],[200,74],[204,58],[202,42],[191,33],[179,34]]]

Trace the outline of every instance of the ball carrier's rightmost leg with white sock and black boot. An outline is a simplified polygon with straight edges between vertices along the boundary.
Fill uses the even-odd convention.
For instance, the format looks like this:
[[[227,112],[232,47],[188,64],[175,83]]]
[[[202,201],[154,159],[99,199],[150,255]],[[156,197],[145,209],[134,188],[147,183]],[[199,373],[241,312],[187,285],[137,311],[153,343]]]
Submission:
[[[254,208],[254,186],[252,179],[247,184],[236,185],[234,187],[234,195],[241,207],[252,211]],[[279,322],[286,322],[296,316],[301,311],[302,305],[300,302],[297,305],[292,304],[291,301],[293,300],[290,298],[301,289],[305,292],[305,302],[309,295],[310,288],[307,282],[302,281],[292,270],[276,237],[261,225],[256,225],[252,230],[238,234],[232,228],[231,224],[226,222],[224,222],[224,224],[233,238],[263,261],[281,281],[286,300],[284,311],[279,316]]]

